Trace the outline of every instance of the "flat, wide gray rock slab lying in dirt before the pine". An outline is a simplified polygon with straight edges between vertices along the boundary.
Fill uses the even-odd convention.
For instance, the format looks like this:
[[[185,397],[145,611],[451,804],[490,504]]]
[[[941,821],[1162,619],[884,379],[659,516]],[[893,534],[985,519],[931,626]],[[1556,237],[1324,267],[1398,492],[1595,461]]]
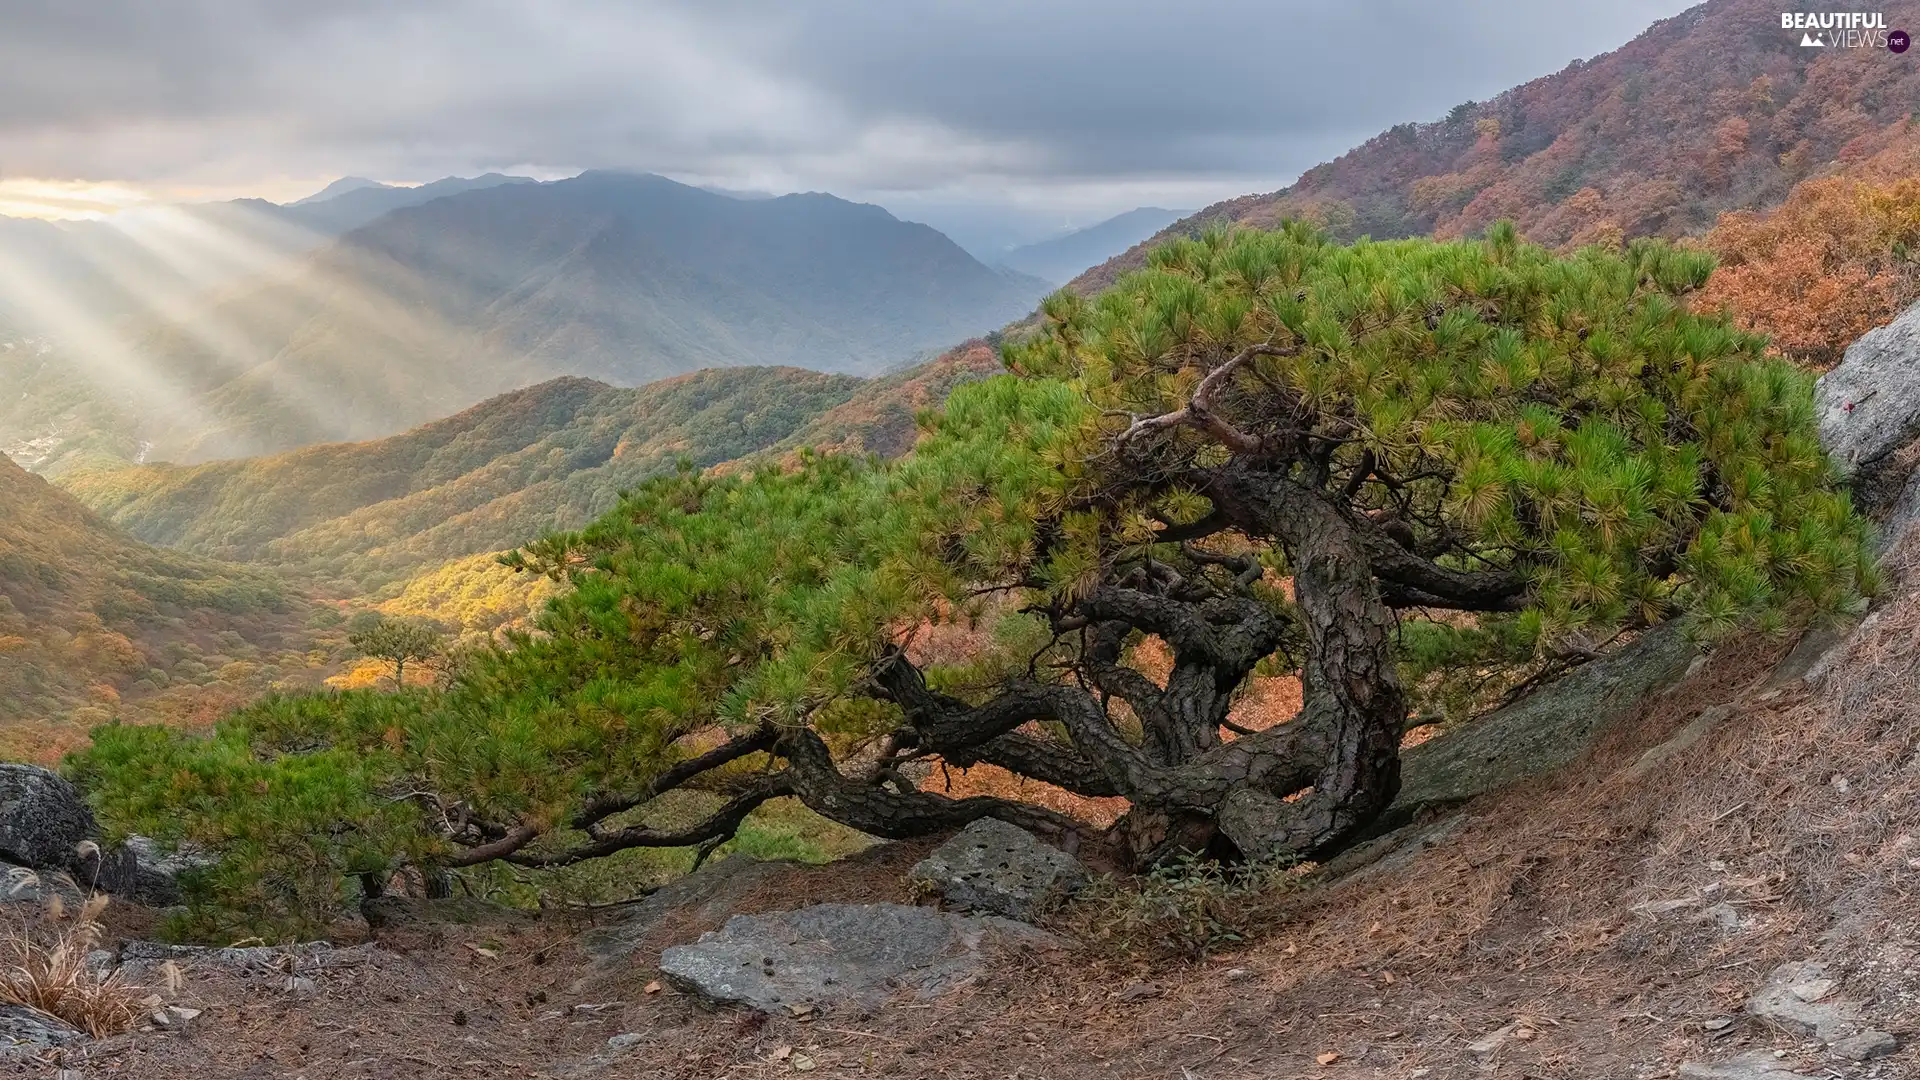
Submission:
[[[1060,938],[993,915],[904,903],[820,903],[735,915],[691,945],[660,953],[668,982],[716,1005],[806,1015],[877,1009],[900,992],[937,997],[972,980],[995,947],[1062,947]]]

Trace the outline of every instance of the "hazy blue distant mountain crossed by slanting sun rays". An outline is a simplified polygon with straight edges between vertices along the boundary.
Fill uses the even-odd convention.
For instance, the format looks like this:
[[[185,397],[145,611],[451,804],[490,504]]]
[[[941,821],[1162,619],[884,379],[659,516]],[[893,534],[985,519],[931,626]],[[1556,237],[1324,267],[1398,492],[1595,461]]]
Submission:
[[[378,198],[394,188],[292,209]],[[90,344],[121,348],[119,367],[140,373],[115,411],[136,417],[127,440],[152,459],[207,461],[378,438],[557,375],[877,373],[1018,319],[1044,292],[876,206],[584,173],[399,208],[286,273],[127,319],[104,346],[58,346],[75,354],[61,371]],[[36,390],[0,369],[0,394]]]

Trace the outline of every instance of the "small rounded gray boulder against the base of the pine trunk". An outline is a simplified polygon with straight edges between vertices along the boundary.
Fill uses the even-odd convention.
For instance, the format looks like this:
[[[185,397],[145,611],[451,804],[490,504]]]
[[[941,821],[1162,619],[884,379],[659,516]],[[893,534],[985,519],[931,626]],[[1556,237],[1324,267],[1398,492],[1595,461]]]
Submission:
[[[1031,920],[1079,892],[1087,867],[1025,828],[983,817],[908,876],[956,909]]]

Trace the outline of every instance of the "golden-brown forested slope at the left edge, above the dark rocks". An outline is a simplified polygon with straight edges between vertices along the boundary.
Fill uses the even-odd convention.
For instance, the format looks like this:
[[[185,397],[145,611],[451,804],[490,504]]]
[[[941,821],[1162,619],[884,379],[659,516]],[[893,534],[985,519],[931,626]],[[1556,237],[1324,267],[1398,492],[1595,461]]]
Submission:
[[[305,603],[267,575],[129,540],[0,457],[0,755],[113,717],[205,721],[300,678]]]

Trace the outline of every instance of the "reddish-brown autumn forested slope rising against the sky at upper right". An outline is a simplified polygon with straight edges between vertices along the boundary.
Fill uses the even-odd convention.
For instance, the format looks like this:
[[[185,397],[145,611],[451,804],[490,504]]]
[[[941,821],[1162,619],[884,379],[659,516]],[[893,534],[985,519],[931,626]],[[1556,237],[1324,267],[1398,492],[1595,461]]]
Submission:
[[[1889,25],[1899,15],[1889,10]],[[1908,56],[1801,48],[1780,29],[1780,4],[1711,0],[1615,52],[1432,123],[1396,125],[1284,190],[1210,206],[1169,233],[1306,215],[1375,238],[1459,236],[1501,217],[1551,246],[1678,236],[1722,211],[1782,202],[1914,110],[1920,67]],[[1112,284],[1142,250],[1075,288]]]

